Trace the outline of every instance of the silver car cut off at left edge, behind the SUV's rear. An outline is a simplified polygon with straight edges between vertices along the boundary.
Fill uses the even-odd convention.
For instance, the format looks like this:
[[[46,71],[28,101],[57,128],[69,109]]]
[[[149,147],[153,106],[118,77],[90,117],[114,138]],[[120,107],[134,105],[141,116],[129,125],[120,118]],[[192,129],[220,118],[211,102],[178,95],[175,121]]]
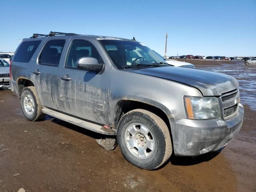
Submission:
[[[9,86],[10,82],[10,65],[6,60],[0,58],[0,88]]]

